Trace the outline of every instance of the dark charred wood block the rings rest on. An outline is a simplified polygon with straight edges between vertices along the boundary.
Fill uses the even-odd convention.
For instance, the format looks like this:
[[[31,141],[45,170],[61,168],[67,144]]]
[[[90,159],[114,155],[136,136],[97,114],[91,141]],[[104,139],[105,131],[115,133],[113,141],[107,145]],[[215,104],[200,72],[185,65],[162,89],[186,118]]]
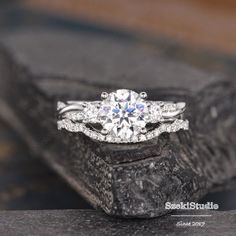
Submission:
[[[236,173],[235,88],[146,45],[92,33],[19,31],[1,38],[1,115],[69,184],[106,213],[154,217]],[[109,144],[57,130],[58,100],[145,90],[185,101],[189,131]]]

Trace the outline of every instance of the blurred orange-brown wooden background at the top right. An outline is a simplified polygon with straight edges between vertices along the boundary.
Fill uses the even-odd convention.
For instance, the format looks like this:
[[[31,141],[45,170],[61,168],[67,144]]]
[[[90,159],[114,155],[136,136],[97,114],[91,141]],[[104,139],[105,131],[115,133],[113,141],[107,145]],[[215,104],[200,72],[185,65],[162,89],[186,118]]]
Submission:
[[[75,19],[236,54],[235,0],[24,0]]]

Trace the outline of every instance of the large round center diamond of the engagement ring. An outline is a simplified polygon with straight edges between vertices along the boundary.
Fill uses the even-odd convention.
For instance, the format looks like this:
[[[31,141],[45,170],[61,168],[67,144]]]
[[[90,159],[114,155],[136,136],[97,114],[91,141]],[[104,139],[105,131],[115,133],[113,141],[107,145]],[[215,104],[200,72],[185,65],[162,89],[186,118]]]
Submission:
[[[138,93],[119,89],[102,101],[98,116],[109,134],[129,139],[146,126],[147,106]]]

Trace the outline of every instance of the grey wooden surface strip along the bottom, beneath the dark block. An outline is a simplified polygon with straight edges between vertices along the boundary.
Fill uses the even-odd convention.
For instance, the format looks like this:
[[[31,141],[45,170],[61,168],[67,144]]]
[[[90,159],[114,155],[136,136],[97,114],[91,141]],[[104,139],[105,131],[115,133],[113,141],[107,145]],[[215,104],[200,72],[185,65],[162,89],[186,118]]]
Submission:
[[[190,213],[203,212],[188,211],[187,214]],[[0,212],[0,234],[2,236],[235,235],[235,211],[207,213],[212,216],[177,218],[167,215],[149,220],[122,220],[92,210],[8,211]],[[205,226],[177,227],[179,221],[205,221]]]

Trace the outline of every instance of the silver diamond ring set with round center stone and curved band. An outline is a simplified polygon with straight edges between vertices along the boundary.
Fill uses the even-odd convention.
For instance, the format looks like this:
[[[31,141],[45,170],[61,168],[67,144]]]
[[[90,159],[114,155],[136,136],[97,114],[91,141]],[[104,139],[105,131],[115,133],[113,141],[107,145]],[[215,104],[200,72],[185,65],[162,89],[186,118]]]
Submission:
[[[58,102],[58,129],[109,143],[137,143],[164,132],[188,130],[184,102],[149,101],[145,92],[103,92],[102,101]]]

